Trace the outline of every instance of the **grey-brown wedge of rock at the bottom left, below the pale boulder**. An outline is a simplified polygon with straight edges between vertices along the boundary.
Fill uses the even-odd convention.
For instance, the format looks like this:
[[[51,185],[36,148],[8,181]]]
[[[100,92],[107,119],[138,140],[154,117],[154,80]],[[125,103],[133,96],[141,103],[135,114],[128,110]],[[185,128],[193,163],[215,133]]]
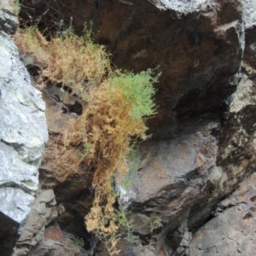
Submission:
[[[12,255],[81,255],[80,248],[74,244],[74,237],[62,234],[60,226],[55,222],[63,211],[56,206],[52,189],[41,190],[32,204],[32,212]]]

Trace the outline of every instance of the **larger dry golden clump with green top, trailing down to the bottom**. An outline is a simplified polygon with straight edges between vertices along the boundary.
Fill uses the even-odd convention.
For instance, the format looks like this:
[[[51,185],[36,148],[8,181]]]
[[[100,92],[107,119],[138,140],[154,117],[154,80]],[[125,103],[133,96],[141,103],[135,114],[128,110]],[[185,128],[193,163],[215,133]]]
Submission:
[[[154,113],[152,84],[156,80],[151,70],[114,73],[93,92],[82,116],[65,131],[65,141],[79,145],[84,159],[94,168],[95,201],[85,218],[87,230],[108,241],[113,255],[119,229],[113,208],[117,196],[113,178],[117,170],[127,171],[132,138],[147,138],[144,121]]]

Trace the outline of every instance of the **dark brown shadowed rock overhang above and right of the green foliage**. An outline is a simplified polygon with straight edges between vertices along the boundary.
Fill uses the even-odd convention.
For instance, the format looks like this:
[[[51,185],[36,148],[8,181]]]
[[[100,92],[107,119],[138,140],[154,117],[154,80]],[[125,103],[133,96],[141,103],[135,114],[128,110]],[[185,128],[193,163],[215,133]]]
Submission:
[[[148,125],[154,138],[166,139],[176,137],[183,121],[191,117],[219,113],[222,118],[228,107],[224,101],[236,90],[234,74],[240,66],[244,33],[237,1],[219,1],[216,8],[208,4],[207,9],[210,1],[165,2],[170,9],[160,10],[146,0],[72,4],[27,0],[26,6],[32,7],[27,12],[34,19],[45,14],[39,26],[52,27],[60,20],[68,24],[73,17],[76,31],[82,31],[84,20],[91,20],[96,43],[106,45],[117,67],[139,72],[159,66],[159,108]],[[189,7],[195,13],[185,16],[192,10]],[[26,19],[26,14],[22,17]]]

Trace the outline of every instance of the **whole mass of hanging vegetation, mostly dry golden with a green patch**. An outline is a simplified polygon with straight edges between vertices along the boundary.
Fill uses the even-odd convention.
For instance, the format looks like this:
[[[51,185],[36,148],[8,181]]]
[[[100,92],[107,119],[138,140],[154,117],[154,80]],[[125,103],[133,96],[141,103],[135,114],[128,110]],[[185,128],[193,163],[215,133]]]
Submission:
[[[19,31],[16,43],[21,52],[32,54],[44,67],[42,78],[63,83],[84,100],[84,111],[63,130],[59,143],[77,148],[81,163],[93,170],[94,202],[85,217],[87,230],[105,241],[110,255],[117,255],[119,227],[131,241],[131,223],[125,212],[113,207],[117,193],[114,177],[129,169],[132,140],[145,140],[145,120],[152,116],[154,87],[158,75],[113,70],[109,55],[93,44],[88,33],[78,37],[72,26],[46,40],[36,26]],[[60,155],[61,157],[61,155]]]

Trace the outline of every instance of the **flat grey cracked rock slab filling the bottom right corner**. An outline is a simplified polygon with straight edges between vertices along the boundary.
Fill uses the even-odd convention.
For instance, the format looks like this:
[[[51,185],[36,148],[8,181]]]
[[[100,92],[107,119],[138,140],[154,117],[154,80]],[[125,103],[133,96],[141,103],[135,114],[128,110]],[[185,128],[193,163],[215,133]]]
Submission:
[[[219,204],[217,217],[193,236],[189,255],[254,255],[255,182],[253,174]]]

